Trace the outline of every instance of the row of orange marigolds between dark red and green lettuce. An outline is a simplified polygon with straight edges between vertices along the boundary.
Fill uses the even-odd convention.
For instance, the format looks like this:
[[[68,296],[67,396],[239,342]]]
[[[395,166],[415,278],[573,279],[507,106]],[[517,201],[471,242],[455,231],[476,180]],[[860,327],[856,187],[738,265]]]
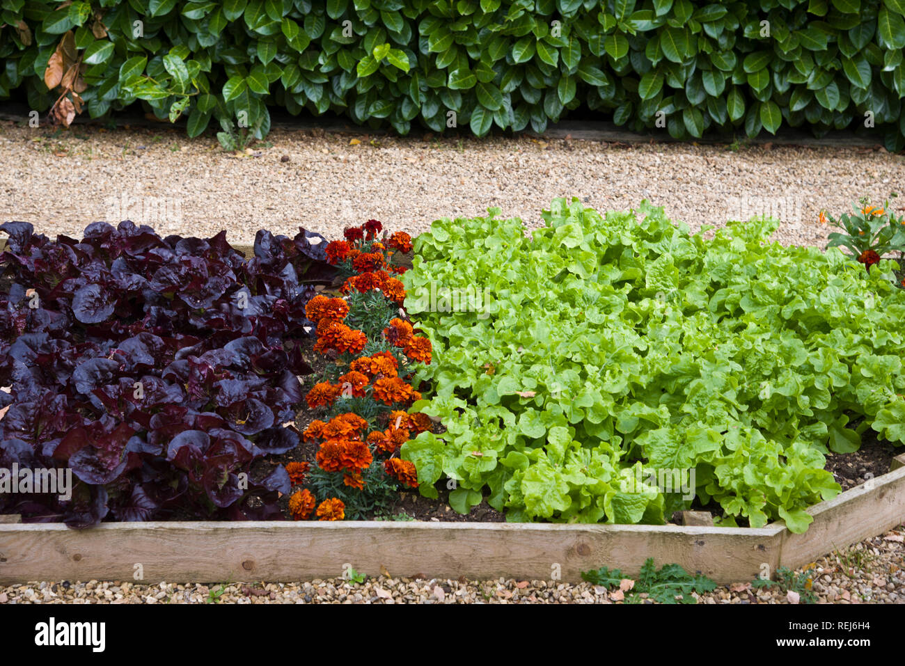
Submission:
[[[419,364],[431,362],[431,345],[400,319],[405,289],[391,275],[405,272],[393,257],[411,251],[411,238],[385,233],[378,240],[382,229],[368,220],[346,229],[345,240],[327,245],[345,297],[319,294],[306,306],[316,326],[314,349],[329,363],[305,398],[325,414],[302,435],[318,444],[318,452],[307,476],[296,479],[304,488],[290,499],[294,519],[310,519],[316,498],[342,505],[341,512],[315,514],[322,520],[386,513],[400,486],[418,485],[414,464],[398,452],[413,433],[432,427],[424,414],[406,411],[421,399],[410,377]]]

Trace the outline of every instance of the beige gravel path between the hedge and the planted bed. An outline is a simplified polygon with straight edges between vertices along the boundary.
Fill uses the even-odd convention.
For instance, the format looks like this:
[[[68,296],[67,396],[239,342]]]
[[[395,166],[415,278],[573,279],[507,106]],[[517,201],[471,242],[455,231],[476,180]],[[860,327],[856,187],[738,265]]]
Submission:
[[[294,234],[304,225],[337,237],[348,224],[376,218],[414,234],[438,217],[483,214],[491,205],[536,225],[556,196],[577,195],[598,210],[624,210],[647,197],[692,229],[773,212],[784,222],[779,241],[823,246],[821,208],[838,216],[860,196],[881,203],[905,189],[905,157],[879,146],[733,151],[278,129],[250,152],[235,157],[213,138],[189,140],[166,125],[54,131],[5,121],[0,221],[76,236],[90,222],[129,216],[164,234],[225,228],[231,242],[247,244],[262,227]],[[123,208],[128,215],[119,214]]]

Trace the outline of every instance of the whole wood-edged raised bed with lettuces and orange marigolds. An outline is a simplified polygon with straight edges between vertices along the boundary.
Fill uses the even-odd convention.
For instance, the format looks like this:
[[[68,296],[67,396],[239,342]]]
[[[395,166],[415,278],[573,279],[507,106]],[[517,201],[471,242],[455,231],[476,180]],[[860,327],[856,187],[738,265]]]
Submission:
[[[490,219],[447,221],[419,239],[416,250],[424,253],[405,266],[390,257],[393,243],[395,262],[410,249],[409,239],[385,234],[378,243],[376,221],[351,230],[357,235],[347,233],[347,242],[329,243],[326,252],[320,243],[326,239],[315,241],[316,234],[259,234],[244,261],[222,236],[161,241],[134,226],[114,232],[100,225],[82,243],[64,239],[52,246],[30,240],[31,230],[21,224],[12,227],[15,259],[37,286],[31,293],[18,283],[11,290],[7,338],[22,330],[12,336],[18,347],[6,352],[18,363],[17,381],[24,379],[15,390],[32,395],[35,404],[52,398],[38,405],[50,430],[27,421],[22,404],[14,423],[24,425],[35,455],[68,461],[88,483],[80,487],[78,510],[59,506],[72,527],[92,528],[48,524],[62,516],[53,512],[57,505],[25,502],[27,519],[43,524],[0,528],[0,581],[129,578],[139,570],[145,579],[280,581],[340,576],[346,565],[398,576],[573,580],[602,564],[635,574],[653,557],[730,582],[804,564],[905,519],[905,471],[878,473],[894,452],[887,442],[903,439],[896,414],[905,385],[900,364],[890,360],[901,347],[890,313],[903,308],[900,290],[887,280],[894,264],[864,273],[838,251],[824,256],[769,246],[764,223],[704,241],[672,226],[662,210],[643,206],[642,212],[643,220],[604,219],[576,202],[557,201],[546,212],[548,228],[533,240],[522,237],[518,221],[495,220],[492,212]],[[453,237],[458,246],[446,243]],[[214,257],[208,272],[195,276],[192,271],[202,269],[193,257],[201,250]],[[48,262],[54,270],[62,263],[62,278],[46,279]],[[73,270],[79,262],[87,271],[81,263]],[[157,264],[154,271],[146,269],[148,262]],[[776,279],[776,265],[797,280],[791,288]],[[494,266],[509,272],[493,274]],[[535,330],[537,322],[524,319],[529,295],[509,289],[525,266],[558,285],[549,288],[553,300],[543,307],[559,309],[563,330],[585,319],[599,330],[572,331],[565,354],[560,331]],[[392,278],[409,268],[403,281]],[[208,289],[210,275],[218,281]],[[436,307],[433,292],[430,302],[424,296],[425,283],[438,277],[453,287],[460,278],[486,278],[494,302],[489,310],[453,308],[444,319],[437,312],[450,310]],[[424,330],[405,319],[403,285],[420,290],[405,307]],[[868,328],[837,314],[854,302],[845,290],[863,289],[873,290],[865,306],[865,319],[879,331],[872,348],[857,342]],[[824,312],[827,292],[835,300],[826,301]],[[26,315],[25,299],[35,294],[52,305]],[[257,299],[257,317],[233,311],[233,300],[243,294]],[[535,294],[544,298],[542,290]],[[164,310],[168,322],[185,330],[167,328]],[[623,319],[615,318],[622,312]],[[79,323],[61,327],[54,323],[59,313]],[[487,319],[482,315],[496,315],[503,326],[470,340],[462,324],[477,326],[474,319]],[[142,354],[157,343],[138,338],[148,317],[165,341],[153,349],[160,356],[153,362]],[[757,328],[764,321],[795,350],[791,357],[777,363],[771,355],[783,350],[759,347],[771,339],[769,330]],[[59,344],[23,336],[26,324],[50,332]],[[270,332],[271,326],[278,330]],[[751,367],[724,326],[744,332],[757,347],[760,357]],[[851,348],[836,349],[842,338],[827,338],[836,329],[849,336]],[[612,340],[597,335],[604,330],[621,347],[607,347]],[[116,344],[104,346],[107,334]],[[545,347],[548,338],[557,338],[561,377],[528,362],[519,366],[522,358],[537,357],[536,343]],[[137,339],[149,347],[139,348]],[[440,347],[433,364],[432,341]],[[490,346],[482,347],[485,342]],[[666,349],[662,357],[655,355],[658,347]],[[721,347],[728,351],[712,353]],[[102,372],[72,372],[78,363],[67,355],[74,351],[77,358],[80,349]],[[480,359],[462,355],[475,349]],[[312,354],[321,355],[319,363]],[[596,363],[595,355],[605,360]],[[622,384],[619,372],[610,372],[616,369],[628,377]],[[42,374],[51,371],[66,386],[57,395],[52,386],[46,394],[34,388],[52,385]],[[166,391],[187,395],[191,423],[161,425],[160,414],[171,414],[172,405],[130,400],[134,377],[126,371],[145,373],[156,400]],[[790,392],[796,382],[800,390]],[[418,389],[429,391],[428,399]],[[50,406],[58,398],[63,407],[70,401],[71,423],[54,420]],[[308,409],[299,412],[302,399]],[[102,428],[94,432],[97,423]],[[124,423],[128,435],[119,432]],[[84,431],[81,440],[64,425]],[[0,421],[0,434],[4,429],[5,444],[19,436],[9,419]],[[214,441],[221,448],[230,444],[231,453],[214,455]],[[120,444],[128,460],[121,452],[119,459],[104,456],[104,447],[119,451]],[[28,458],[25,445],[7,444],[5,453]],[[242,447],[251,457],[241,455]],[[118,460],[128,462],[131,476]],[[643,468],[664,467],[704,476],[692,486],[693,501],[640,480]],[[239,491],[234,476],[240,471],[251,472],[252,492]],[[173,498],[167,487],[178,490]],[[398,494],[415,487],[423,497]],[[185,506],[174,501],[183,495]],[[315,497],[323,500],[316,513]],[[450,506],[457,512],[453,520]],[[668,524],[673,511],[688,509],[712,510],[721,527]],[[503,523],[504,512],[510,519],[551,522]],[[157,515],[175,520],[161,522]],[[271,520],[277,516],[306,522]],[[315,516],[382,519],[312,522]],[[144,522],[111,523],[110,517]],[[408,521],[413,517],[423,521]],[[256,520],[241,522],[247,519]]]

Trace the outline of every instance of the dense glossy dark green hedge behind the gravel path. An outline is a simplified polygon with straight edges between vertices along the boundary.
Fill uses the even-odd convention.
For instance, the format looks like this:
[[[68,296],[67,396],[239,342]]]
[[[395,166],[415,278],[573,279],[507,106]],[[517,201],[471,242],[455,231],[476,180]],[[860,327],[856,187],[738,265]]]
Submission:
[[[402,134],[419,120],[441,131],[454,111],[479,135],[542,131],[586,105],[635,129],[659,118],[676,138],[784,123],[820,133],[872,116],[887,147],[905,146],[905,0],[0,5],[0,96],[24,85],[33,109],[49,109],[60,90],[43,73],[73,31],[91,116],[146,100],[160,118],[186,114],[192,136],[240,112],[263,136],[265,104]]]

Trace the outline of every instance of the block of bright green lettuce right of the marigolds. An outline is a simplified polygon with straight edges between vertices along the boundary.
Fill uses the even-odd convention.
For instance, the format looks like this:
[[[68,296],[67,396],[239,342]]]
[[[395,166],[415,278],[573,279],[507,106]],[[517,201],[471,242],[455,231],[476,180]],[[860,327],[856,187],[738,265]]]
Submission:
[[[825,252],[770,243],[763,218],[707,240],[646,203],[557,199],[529,235],[499,215],[433,223],[403,276],[435,349],[414,407],[446,429],[403,446],[424,495],[454,480],[460,510],[561,522],[662,523],[696,502],[800,532],[840,490],[824,454],[868,431],[905,443],[889,205],[822,213],[842,228]]]

